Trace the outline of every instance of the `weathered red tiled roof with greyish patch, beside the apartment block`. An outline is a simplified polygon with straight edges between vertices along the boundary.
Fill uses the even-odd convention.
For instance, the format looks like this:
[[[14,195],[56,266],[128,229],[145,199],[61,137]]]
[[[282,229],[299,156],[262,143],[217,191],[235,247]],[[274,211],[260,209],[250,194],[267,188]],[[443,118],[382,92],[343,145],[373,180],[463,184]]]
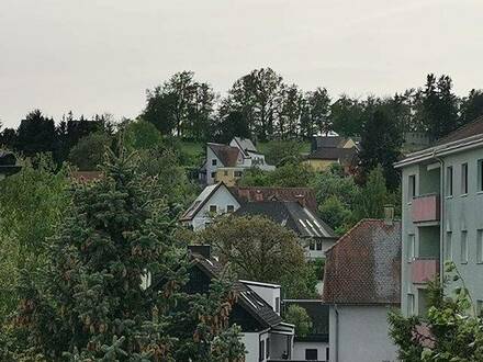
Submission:
[[[401,222],[363,219],[326,251],[323,301],[398,304]]]

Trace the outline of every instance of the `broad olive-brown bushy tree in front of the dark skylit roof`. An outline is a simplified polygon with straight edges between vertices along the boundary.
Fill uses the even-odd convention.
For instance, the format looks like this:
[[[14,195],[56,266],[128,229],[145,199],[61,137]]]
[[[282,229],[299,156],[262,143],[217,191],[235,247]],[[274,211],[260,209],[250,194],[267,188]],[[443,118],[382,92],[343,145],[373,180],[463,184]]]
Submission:
[[[222,216],[199,234],[239,279],[280,283],[288,297],[311,297],[316,278],[295,234],[263,216]]]

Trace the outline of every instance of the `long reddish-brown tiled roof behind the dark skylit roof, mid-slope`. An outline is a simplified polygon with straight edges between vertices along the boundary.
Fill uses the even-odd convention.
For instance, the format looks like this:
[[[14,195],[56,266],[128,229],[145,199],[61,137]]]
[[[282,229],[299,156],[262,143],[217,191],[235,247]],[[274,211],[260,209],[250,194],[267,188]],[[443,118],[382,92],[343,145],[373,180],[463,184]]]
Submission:
[[[317,211],[315,191],[310,188],[258,188],[237,186],[231,188],[240,202],[252,201],[297,201],[312,210]]]

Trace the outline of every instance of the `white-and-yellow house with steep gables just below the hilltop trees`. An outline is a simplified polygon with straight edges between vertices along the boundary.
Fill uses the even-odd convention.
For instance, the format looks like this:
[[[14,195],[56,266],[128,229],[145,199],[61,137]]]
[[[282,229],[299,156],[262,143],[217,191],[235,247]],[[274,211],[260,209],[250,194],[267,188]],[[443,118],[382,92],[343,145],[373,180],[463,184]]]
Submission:
[[[268,165],[265,155],[260,154],[254,143],[247,138],[235,137],[229,145],[207,143],[206,160],[200,170],[200,181],[205,184],[224,182],[233,186],[245,170],[259,168],[274,170]]]

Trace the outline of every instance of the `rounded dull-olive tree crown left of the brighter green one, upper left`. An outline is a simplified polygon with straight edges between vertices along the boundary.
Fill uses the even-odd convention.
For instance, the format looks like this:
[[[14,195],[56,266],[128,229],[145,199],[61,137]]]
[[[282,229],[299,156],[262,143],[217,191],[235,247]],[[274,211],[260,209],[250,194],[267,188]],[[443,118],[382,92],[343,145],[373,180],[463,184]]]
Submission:
[[[70,149],[69,161],[81,171],[92,171],[102,162],[105,149],[111,146],[111,136],[103,133],[92,133],[80,138]]]

